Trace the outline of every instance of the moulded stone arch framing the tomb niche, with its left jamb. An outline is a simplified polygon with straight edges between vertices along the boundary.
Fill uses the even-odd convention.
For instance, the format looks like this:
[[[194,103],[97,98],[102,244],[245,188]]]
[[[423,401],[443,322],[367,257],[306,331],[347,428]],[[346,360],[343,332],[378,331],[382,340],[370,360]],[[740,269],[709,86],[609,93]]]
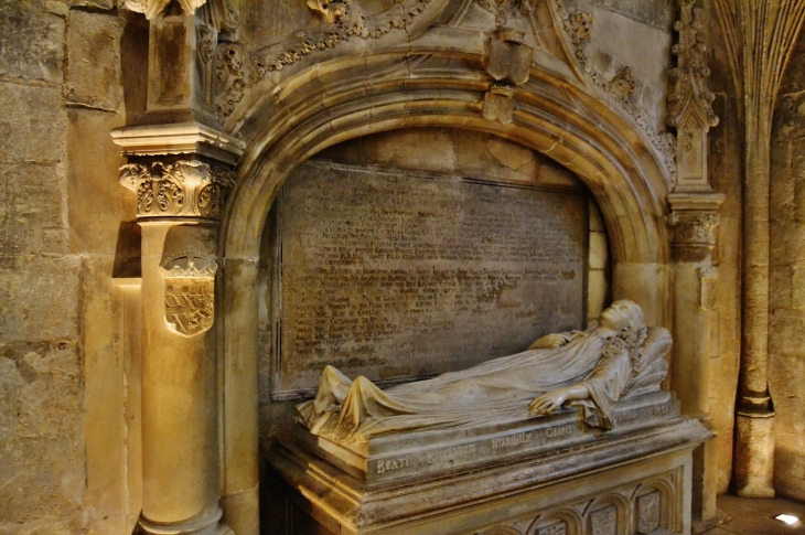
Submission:
[[[440,52],[441,51],[441,52]],[[402,128],[484,132],[540,152],[576,174],[595,197],[610,239],[612,298],[640,303],[651,324],[668,324],[669,180],[645,136],[567,69],[532,67],[515,92],[512,124],[489,121],[490,81],[480,51],[412,76],[402,53],[319,64],[285,81],[233,117],[248,139],[224,221],[222,435],[224,510],[250,516],[258,500],[258,303],[264,228],[275,199],[302,162],[340,142]],[[419,51],[438,55],[443,47]],[[358,71],[356,71],[358,69]],[[359,73],[359,75],[356,75]]]

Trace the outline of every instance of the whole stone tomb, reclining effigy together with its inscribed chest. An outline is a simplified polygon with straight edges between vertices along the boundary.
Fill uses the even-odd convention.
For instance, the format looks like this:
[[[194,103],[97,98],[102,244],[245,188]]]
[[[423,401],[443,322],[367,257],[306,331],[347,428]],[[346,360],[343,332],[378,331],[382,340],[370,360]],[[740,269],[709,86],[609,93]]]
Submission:
[[[612,323],[608,313],[602,325]],[[618,336],[611,333],[599,336],[601,329],[548,335],[540,339],[547,344],[537,341],[533,350],[496,360],[498,364],[446,374],[421,387],[380,392],[367,379],[344,377],[345,394],[335,371],[334,383],[320,383],[319,406],[300,405],[308,428],[300,426],[296,438],[279,442],[271,456],[282,502],[278,533],[690,533],[691,453],[710,434],[680,416],[673,393],[659,389],[667,370],[667,331],[648,329],[634,353],[624,343],[612,343]],[[611,346],[615,350],[607,349]],[[518,363],[536,370],[534,363],[554,365],[571,353],[580,362],[590,347],[604,347],[600,359],[582,365],[594,367],[581,371],[582,381],[559,381],[538,397],[547,402],[532,404],[529,410],[537,414],[501,410],[493,418],[479,413],[476,420],[439,422],[451,406],[446,393],[481,392],[494,398],[497,394],[483,394],[484,388],[506,374],[522,376]],[[558,377],[562,370],[557,368]],[[334,386],[340,404],[328,402],[328,385]],[[614,400],[611,407],[601,392]],[[420,404],[423,399],[444,403],[428,408]],[[539,415],[551,399],[561,408]],[[431,425],[417,428],[420,417]]]

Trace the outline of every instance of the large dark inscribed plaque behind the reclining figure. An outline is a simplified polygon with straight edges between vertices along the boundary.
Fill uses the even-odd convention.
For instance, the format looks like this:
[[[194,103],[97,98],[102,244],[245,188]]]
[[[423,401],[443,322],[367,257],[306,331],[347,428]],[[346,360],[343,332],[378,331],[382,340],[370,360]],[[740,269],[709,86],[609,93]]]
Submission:
[[[276,204],[275,399],[407,381],[581,329],[586,194],[318,162]]]

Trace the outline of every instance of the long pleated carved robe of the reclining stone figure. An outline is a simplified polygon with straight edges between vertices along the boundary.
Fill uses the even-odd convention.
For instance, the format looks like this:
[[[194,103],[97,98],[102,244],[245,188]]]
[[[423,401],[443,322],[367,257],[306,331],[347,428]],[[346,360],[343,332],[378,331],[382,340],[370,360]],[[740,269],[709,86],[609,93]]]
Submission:
[[[662,344],[664,354],[670,339],[662,331],[667,339]],[[314,435],[364,441],[405,429],[527,418],[535,397],[582,384],[589,399],[571,405],[581,409],[588,425],[611,429],[614,404],[632,376],[629,351],[592,332],[566,335],[571,340],[560,347],[525,351],[386,390],[366,377],[353,382],[328,366],[315,399],[297,407],[300,420]],[[658,381],[652,383],[658,387]]]

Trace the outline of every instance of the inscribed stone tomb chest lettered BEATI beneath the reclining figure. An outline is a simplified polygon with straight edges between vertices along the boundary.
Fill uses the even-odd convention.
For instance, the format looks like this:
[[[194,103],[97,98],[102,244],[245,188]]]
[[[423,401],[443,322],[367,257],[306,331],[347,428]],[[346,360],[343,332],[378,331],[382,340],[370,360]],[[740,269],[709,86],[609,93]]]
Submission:
[[[629,405],[620,407],[621,425],[605,434],[576,430],[573,414],[520,421],[519,429],[502,422],[479,430],[463,442],[464,452],[475,445],[475,462],[462,462],[458,429],[441,432],[453,443],[440,443],[432,435],[418,452],[406,450],[415,443],[406,441],[406,434],[363,445],[363,454],[359,446],[351,447],[351,460],[340,463],[353,475],[322,459],[348,458],[344,449],[325,452],[310,440],[307,447],[280,443],[270,461],[271,477],[280,480],[271,485],[278,495],[268,496],[276,507],[272,517],[285,535],[688,534],[691,453],[710,434],[697,420],[680,417],[668,393]],[[486,453],[502,450],[502,456],[484,454],[484,442]],[[520,454],[506,451],[517,448]],[[451,463],[446,453],[441,459],[431,454],[433,462],[427,464],[428,452],[439,451],[459,462]],[[362,456],[369,460],[363,474]],[[377,470],[380,460],[383,470]],[[433,463],[436,469],[428,468]],[[402,475],[383,478],[395,472]]]

